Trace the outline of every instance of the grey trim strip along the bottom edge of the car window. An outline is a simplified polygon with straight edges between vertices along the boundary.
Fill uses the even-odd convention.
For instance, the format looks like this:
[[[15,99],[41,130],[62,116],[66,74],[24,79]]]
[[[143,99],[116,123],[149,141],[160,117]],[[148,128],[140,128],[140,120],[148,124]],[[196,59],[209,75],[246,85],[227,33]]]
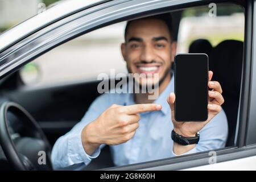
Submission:
[[[250,146],[238,147],[225,147],[218,150],[212,150],[216,152],[216,162],[228,162],[229,160],[236,160],[241,158],[247,158],[255,156],[256,144]],[[209,155],[210,151],[199,152],[196,154],[190,154],[185,156],[177,156],[175,158],[160,159],[150,162],[129,164],[126,166],[110,167],[97,169],[102,171],[133,171],[133,170],[180,170],[199,166],[210,165],[209,159],[212,155]]]

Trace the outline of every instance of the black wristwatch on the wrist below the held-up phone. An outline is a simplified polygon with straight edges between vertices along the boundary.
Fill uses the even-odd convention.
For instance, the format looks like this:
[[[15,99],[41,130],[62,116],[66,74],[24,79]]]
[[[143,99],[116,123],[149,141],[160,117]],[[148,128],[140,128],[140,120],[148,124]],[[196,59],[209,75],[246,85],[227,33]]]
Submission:
[[[183,137],[172,130],[171,137],[174,142],[181,144],[182,146],[187,146],[189,144],[197,144],[199,142],[200,135],[198,132],[195,137]]]

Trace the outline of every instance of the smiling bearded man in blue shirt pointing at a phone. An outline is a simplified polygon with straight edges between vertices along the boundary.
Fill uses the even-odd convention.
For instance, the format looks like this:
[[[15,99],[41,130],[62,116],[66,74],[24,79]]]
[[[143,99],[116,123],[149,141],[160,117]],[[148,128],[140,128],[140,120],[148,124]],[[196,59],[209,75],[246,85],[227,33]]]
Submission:
[[[97,158],[105,144],[110,146],[117,166],[225,147],[228,123],[221,110],[224,102],[221,85],[211,81],[213,72],[209,71],[208,86],[214,91],[209,91],[208,120],[176,122],[174,119],[171,63],[176,54],[176,42],[170,14],[127,22],[121,51],[129,73],[148,75],[144,80],[135,79],[135,85],[153,82],[158,85],[155,89],[159,90],[159,97],[149,100],[150,93],[102,94],[81,122],[55,143],[54,168],[73,164],[85,166]],[[154,79],[156,74],[158,80]],[[193,80],[188,78],[188,81]],[[174,142],[172,130],[191,142],[187,145]]]

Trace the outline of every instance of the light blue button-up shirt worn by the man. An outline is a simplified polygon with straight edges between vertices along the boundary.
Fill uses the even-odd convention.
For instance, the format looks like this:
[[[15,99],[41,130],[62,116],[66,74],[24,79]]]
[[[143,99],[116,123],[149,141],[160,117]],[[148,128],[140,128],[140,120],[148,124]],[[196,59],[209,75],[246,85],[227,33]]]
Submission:
[[[166,89],[154,101],[162,105],[162,110],[142,113],[134,137],[125,143],[110,146],[115,165],[121,166],[176,156],[172,151],[171,131],[174,126],[171,121],[171,109],[167,103],[168,94],[171,92],[174,92],[173,76]],[[113,104],[135,104],[133,96],[129,93],[105,93],[98,97],[90,105],[82,120],[71,131],[60,137],[53,146],[51,156],[53,168],[63,168],[73,164],[85,166],[92,159],[97,158],[104,144],[92,155],[86,154],[81,142],[82,129]],[[185,154],[225,147],[227,136],[228,122],[225,112],[221,110],[201,129],[200,141],[196,147]]]

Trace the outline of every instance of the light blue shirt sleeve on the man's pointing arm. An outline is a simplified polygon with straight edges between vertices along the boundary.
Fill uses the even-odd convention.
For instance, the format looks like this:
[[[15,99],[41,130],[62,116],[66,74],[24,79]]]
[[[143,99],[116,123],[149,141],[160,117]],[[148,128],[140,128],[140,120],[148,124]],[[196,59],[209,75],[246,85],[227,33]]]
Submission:
[[[102,111],[108,108],[109,104],[109,96],[107,94],[98,97],[90,105],[81,121],[71,131],[57,139],[51,154],[53,168],[61,169],[73,166],[74,164],[85,164],[87,166],[92,159],[100,155],[101,148],[104,147],[104,144],[98,147],[92,155],[88,155],[82,146],[81,133],[82,129],[88,123],[93,122]]]

